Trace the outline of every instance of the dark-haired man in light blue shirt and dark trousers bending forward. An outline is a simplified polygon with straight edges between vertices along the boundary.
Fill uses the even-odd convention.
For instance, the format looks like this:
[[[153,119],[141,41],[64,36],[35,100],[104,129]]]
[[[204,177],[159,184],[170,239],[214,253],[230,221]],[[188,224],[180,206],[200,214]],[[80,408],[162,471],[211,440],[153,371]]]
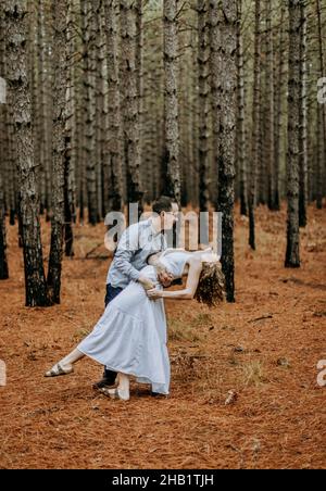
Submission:
[[[127,228],[121,237],[106,279],[105,307],[130,281],[140,282],[146,290],[154,288],[149,278],[140,270],[147,266],[150,255],[166,249],[163,230],[171,230],[177,222],[178,205],[171,198],[161,197],[153,204],[154,217],[139,222]],[[167,288],[172,277],[167,273],[159,276],[160,282]],[[102,389],[114,385],[116,373],[104,368],[103,378],[95,385]]]

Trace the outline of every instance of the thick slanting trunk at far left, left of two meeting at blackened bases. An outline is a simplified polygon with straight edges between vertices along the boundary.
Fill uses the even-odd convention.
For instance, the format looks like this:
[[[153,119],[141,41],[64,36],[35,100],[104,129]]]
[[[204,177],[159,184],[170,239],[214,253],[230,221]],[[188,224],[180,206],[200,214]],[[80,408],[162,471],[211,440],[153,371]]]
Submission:
[[[30,85],[27,68],[28,11],[25,0],[4,1],[7,81],[12,104],[20,176],[26,306],[48,304],[39,224],[39,197],[34,161]]]

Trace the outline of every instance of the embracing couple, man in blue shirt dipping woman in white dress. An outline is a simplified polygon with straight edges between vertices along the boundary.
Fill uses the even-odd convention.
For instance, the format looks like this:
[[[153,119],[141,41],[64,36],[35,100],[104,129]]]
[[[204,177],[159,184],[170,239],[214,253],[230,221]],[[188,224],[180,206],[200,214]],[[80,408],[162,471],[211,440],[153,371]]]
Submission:
[[[178,206],[167,197],[153,204],[155,217],[123,234],[109,269],[105,311],[92,332],[46,377],[67,375],[89,356],[104,365],[96,385],[112,399],[129,400],[129,380],[150,383],[152,394],[170,393],[164,299],[198,301],[212,306],[224,298],[220,257],[211,249],[167,249],[164,230],[177,222]],[[166,291],[187,276],[186,288]],[[114,387],[115,386],[115,387]]]

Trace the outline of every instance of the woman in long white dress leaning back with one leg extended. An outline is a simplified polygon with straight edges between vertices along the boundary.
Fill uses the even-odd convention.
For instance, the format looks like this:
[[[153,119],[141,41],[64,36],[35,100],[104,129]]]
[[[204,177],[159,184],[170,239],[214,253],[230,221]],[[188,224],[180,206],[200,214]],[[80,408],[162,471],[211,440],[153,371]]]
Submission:
[[[129,377],[151,383],[152,391],[168,394],[170,360],[166,348],[166,317],[163,299],[190,300],[210,306],[224,299],[224,276],[220,257],[211,249],[186,252],[170,249],[149,259],[142,273],[156,287],[146,291],[131,282],[111,302],[92,332],[46,377],[67,375],[85,355],[116,372],[117,388],[102,389],[113,399],[129,400]],[[158,274],[165,269],[174,279],[188,276],[186,288],[164,291]]]

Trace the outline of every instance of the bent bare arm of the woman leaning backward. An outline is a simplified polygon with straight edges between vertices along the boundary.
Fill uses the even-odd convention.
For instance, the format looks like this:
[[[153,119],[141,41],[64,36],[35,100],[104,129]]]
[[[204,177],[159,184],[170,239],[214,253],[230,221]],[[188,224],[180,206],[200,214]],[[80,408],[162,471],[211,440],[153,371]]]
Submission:
[[[162,291],[162,290],[149,290],[147,291],[148,297],[151,300],[156,299],[172,299],[172,300],[191,300],[198,288],[200,275],[202,270],[201,260],[198,257],[191,257],[189,261],[189,273],[187,285],[184,290],[176,291]]]

